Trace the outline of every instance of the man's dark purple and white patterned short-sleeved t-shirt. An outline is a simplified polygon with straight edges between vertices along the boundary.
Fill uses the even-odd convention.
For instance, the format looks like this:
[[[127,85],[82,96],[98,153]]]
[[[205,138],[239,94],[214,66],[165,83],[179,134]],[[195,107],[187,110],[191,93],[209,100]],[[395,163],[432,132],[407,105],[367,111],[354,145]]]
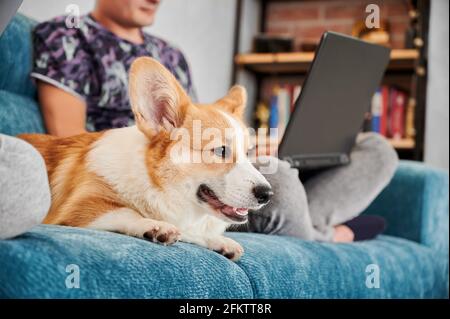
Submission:
[[[59,87],[86,102],[88,131],[134,123],[128,99],[128,69],[134,59],[151,56],[179,80],[195,100],[189,66],[183,53],[142,32],[143,44],[119,38],[90,15],[68,28],[61,16],[34,29],[31,76]]]

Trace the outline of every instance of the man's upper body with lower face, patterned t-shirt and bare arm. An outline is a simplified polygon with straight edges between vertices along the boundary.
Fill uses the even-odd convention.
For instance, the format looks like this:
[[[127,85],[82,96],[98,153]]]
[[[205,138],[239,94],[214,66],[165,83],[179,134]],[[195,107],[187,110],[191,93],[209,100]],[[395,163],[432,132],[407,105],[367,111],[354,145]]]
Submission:
[[[79,27],[59,17],[34,33],[39,102],[48,133],[70,136],[128,126],[127,71],[139,56],[166,66],[194,96],[184,55],[167,42],[142,32],[150,25],[159,0],[100,0]]]

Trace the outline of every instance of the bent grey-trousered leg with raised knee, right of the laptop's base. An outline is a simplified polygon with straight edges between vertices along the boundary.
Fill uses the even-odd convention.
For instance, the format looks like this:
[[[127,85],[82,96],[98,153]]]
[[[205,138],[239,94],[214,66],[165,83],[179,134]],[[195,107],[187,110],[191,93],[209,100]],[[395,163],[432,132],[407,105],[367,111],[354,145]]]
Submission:
[[[314,228],[325,237],[358,216],[392,179],[398,157],[376,133],[361,133],[346,166],[327,169],[305,182]]]

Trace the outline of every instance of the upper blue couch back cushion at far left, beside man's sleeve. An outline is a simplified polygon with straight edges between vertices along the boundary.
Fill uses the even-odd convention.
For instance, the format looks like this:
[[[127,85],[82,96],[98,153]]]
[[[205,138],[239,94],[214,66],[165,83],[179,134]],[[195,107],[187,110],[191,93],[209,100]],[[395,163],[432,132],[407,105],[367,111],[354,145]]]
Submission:
[[[35,21],[16,14],[1,35],[0,90],[29,97],[36,95],[30,78],[33,55],[31,31],[35,24]]]

